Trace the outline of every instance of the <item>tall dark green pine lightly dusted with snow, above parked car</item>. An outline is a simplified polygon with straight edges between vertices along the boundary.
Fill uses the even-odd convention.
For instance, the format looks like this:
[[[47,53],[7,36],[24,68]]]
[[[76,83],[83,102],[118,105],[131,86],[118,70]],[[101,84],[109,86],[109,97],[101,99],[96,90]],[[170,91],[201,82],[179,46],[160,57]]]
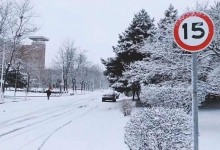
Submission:
[[[106,66],[105,75],[112,87],[119,91],[129,90],[127,79],[122,72],[130,63],[145,58],[145,54],[139,52],[139,49],[144,40],[154,36],[155,31],[154,19],[151,19],[144,9],[135,14],[130,26],[119,35],[118,45],[113,47],[116,57],[102,60]]]

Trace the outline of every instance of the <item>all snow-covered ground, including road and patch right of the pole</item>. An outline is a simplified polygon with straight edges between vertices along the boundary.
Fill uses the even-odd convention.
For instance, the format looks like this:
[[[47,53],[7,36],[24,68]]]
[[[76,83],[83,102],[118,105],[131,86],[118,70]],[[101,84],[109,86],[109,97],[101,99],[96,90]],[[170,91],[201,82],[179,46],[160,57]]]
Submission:
[[[102,94],[5,99],[0,105],[0,150],[128,150],[124,126],[129,117],[119,111],[120,100],[103,103]],[[219,114],[220,107],[200,110],[200,150],[220,149]]]

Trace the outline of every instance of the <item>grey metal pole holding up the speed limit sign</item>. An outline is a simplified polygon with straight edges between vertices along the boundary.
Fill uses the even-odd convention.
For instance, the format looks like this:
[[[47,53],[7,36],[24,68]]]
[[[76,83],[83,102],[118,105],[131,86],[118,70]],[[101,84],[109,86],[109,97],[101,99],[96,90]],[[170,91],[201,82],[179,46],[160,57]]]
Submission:
[[[193,115],[193,149],[199,149],[198,101],[197,101],[197,52],[192,52],[192,115]]]

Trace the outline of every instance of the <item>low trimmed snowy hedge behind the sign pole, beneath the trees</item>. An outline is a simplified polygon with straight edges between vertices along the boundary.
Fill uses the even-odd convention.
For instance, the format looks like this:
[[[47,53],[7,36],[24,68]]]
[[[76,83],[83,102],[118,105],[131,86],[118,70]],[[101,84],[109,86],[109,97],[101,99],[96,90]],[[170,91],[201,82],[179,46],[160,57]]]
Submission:
[[[199,85],[198,101],[200,105],[201,102],[205,100],[207,92],[202,84]],[[143,103],[149,104],[152,107],[161,106],[165,108],[184,108],[187,112],[191,112],[191,86],[188,88],[142,86],[140,98]]]

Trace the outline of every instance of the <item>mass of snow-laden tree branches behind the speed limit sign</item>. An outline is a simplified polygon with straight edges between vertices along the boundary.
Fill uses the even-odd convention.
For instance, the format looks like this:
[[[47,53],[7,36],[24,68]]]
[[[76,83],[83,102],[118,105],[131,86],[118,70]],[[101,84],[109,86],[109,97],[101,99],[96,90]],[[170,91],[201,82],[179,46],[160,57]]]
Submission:
[[[220,4],[218,5],[216,4],[215,7],[220,7]],[[207,10],[213,18],[215,18],[214,14],[217,13],[215,11],[216,9],[214,8]],[[188,85],[187,89],[190,89],[191,53],[180,49],[174,42],[172,30],[177,13],[175,12],[173,14],[175,14],[172,15],[174,16],[172,17],[173,19],[167,16],[161,19],[158,24],[160,28],[158,28],[155,36],[151,39],[148,38],[142,48],[139,49],[146,58],[142,61],[136,61],[130,64],[129,69],[123,73],[129,82],[138,80],[145,85],[160,84],[164,86],[169,84],[169,86],[176,86],[179,89],[183,88],[182,85],[184,84]],[[218,19],[215,19],[215,24],[218,23],[217,20]],[[218,28],[217,31],[219,34]],[[217,77],[212,79],[213,75],[209,75],[210,73],[212,74],[212,72],[216,72],[214,70],[220,63],[220,57],[218,57],[217,51],[219,49],[218,43],[219,42],[214,41],[209,48],[198,52],[198,82],[203,85],[199,87],[203,94],[207,94],[207,91],[211,90],[211,93],[219,93],[218,85],[215,82],[217,81]],[[215,76],[216,75],[215,73]],[[213,88],[210,89],[210,87]],[[201,101],[205,99],[204,97],[205,95],[201,96]]]

